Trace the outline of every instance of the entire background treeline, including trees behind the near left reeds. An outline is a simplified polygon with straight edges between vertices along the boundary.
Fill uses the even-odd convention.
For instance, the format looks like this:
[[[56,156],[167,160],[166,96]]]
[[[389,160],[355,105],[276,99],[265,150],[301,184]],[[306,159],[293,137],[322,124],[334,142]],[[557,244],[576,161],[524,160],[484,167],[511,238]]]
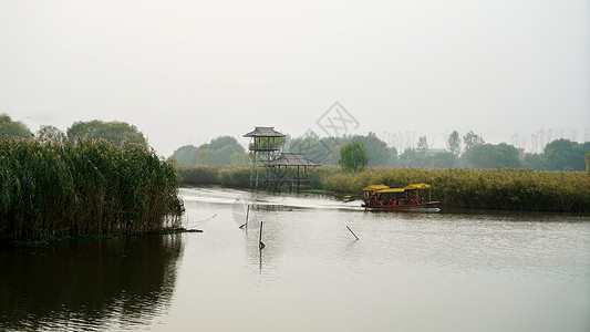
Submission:
[[[104,138],[115,145],[131,142],[147,145],[147,139],[137,127],[124,122],[103,122],[99,120],[75,122],[65,133],[54,126],[43,125],[33,134],[22,122],[14,122],[7,114],[0,115],[2,137],[35,138],[41,142],[63,144],[76,137]],[[1,138],[1,137],[0,137]],[[549,170],[583,170],[590,165],[590,142],[577,143],[569,139],[555,139],[544,147],[540,154],[526,154],[522,149],[506,143],[488,144],[482,135],[469,131],[465,135],[452,132],[446,137],[446,148],[428,146],[426,136],[421,136],[414,147],[397,152],[395,147],[379,138],[374,133],[368,135],[343,135],[341,137],[320,137],[309,132],[300,137],[287,135],[277,139],[283,152],[304,153],[306,156],[322,165],[339,165],[340,149],[348,143],[362,143],[369,155],[369,167],[432,167],[432,168],[503,168],[524,167]],[[185,145],[177,148],[170,162],[186,165],[249,165],[250,153],[235,137],[219,136],[199,146]]]

